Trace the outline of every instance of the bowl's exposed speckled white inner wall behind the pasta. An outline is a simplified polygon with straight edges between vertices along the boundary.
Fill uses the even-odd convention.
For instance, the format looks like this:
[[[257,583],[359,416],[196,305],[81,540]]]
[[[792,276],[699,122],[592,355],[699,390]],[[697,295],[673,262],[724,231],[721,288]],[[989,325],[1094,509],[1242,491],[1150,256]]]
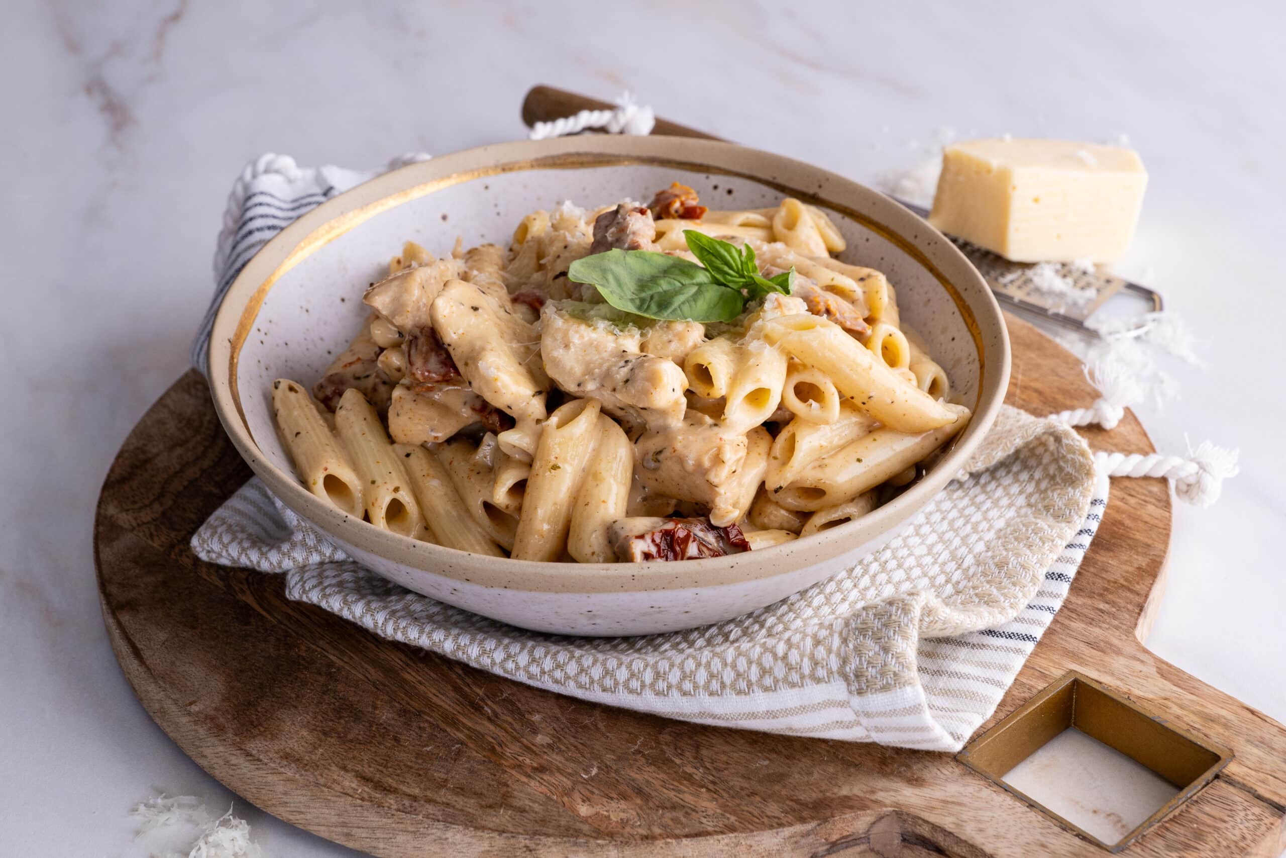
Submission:
[[[462,181],[410,199],[354,226],[285,271],[271,287],[237,368],[247,426],[264,457],[293,473],[273,424],[275,378],[311,386],[368,315],[361,295],[387,271],[404,241],[435,255],[459,235],[466,247],[508,247],[527,212],[567,199],[586,208],[622,198],[644,203],[671,181],[692,185],[711,208],[775,206],[782,192],[754,180],[651,165],[518,170]],[[904,327],[914,329],[950,377],[954,401],[974,406],[979,358],[955,302],[916,259],[863,224],[827,211],[849,243],[840,259],[878,269],[898,295]],[[913,237],[907,237],[908,239]]]

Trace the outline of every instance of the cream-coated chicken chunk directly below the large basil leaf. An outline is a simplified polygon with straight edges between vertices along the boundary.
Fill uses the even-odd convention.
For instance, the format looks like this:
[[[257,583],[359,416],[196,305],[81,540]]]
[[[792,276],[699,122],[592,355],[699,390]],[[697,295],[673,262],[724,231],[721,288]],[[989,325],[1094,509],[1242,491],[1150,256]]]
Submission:
[[[638,328],[577,319],[553,304],[540,314],[545,372],[562,390],[597,399],[603,410],[648,428],[679,426],[688,377],[673,360],[639,350]]]

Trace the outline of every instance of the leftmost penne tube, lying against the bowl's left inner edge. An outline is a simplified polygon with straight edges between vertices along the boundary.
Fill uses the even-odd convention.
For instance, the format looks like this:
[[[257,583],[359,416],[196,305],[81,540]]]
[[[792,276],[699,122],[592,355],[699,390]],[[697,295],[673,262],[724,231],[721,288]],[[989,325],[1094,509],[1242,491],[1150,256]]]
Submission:
[[[273,415],[305,488],[340,512],[360,518],[361,480],[316,403],[289,378],[273,382]]]

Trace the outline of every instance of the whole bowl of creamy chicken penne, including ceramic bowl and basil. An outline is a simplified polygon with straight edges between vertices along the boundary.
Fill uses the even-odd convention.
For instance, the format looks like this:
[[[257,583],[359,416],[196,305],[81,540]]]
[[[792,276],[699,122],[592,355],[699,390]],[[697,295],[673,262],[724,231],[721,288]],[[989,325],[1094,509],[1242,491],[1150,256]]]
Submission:
[[[449,156],[283,232],[225,297],[210,359],[256,472],[392,580],[550,632],[724,619],[891,536],[1003,395],[1007,342],[985,284],[858,185],[728,144],[670,140],[662,156],[660,143]],[[505,149],[553,166],[496,167]],[[733,153],[755,169],[730,172]],[[471,156],[482,178],[449,170]],[[751,178],[783,165],[910,234]],[[509,176],[529,180],[517,199]],[[498,220],[512,212],[512,233],[471,229],[467,194],[448,205],[450,190],[481,196],[477,183],[502,192],[489,202]],[[432,230],[415,223],[431,210]],[[872,235],[883,244],[854,252]],[[377,266],[379,247],[400,252]]]

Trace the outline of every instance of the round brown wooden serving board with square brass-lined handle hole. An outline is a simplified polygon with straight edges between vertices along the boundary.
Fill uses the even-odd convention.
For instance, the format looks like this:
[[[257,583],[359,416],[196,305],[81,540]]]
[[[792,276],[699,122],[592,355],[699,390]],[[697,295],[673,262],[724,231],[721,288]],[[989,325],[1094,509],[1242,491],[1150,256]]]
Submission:
[[[1008,401],[1094,399],[1079,361],[1010,319]],[[1091,444],[1151,452],[1133,414]],[[265,810],[378,855],[1098,854],[953,756],[692,726],[580,702],[381,641],[189,539],[251,476],[189,372],[121,449],[94,530],[103,616],[143,705]],[[1080,670],[1236,759],[1132,854],[1269,854],[1286,731],[1136,633],[1170,533],[1159,480],[1116,480],[1071,594],[1001,718]],[[1276,855],[1276,853],[1272,853]]]

